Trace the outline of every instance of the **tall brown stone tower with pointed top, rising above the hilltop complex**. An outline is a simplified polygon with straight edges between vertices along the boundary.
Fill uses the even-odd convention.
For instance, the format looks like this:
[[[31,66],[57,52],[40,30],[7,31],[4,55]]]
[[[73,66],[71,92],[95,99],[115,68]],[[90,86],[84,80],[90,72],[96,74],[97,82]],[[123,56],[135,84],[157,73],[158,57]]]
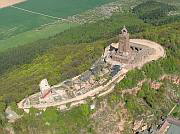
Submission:
[[[121,55],[128,55],[130,52],[130,46],[129,46],[129,33],[124,26],[124,28],[121,30],[121,34],[119,34],[119,45],[118,45],[118,53]]]

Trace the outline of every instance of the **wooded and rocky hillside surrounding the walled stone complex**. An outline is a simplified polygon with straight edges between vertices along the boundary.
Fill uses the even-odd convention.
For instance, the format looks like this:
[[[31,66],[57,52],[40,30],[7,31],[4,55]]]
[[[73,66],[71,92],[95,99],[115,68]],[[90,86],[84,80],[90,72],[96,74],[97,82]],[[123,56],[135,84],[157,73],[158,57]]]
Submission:
[[[32,48],[22,47],[14,53],[1,55],[0,66],[4,74],[0,78],[0,131],[9,125],[17,134],[132,134],[135,122],[143,120],[141,125],[150,127],[161,116],[166,116],[180,96],[179,85],[173,81],[180,77],[180,21],[156,25],[138,15],[135,12],[115,15],[39,41],[44,47],[35,43]],[[110,95],[93,102],[89,100],[88,104],[68,112],[48,108],[41,114],[35,109],[25,114],[17,109],[15,102],[38,91],[41,79],[47,78],[53,85],[88,69],[105,46],[117,41],[116,36],[123,25],[129,29],[131,38],[144,38],[163,45],[167,57],[147,64],[141,70],[130,71]],[[47,49],[48,45],[55,48]],[[42,55],[35,58],[40,53]],[[17,55],[19,59],[13,61]],[[10,70],[5,72],[7,69]],[[156,90],[153,83],[162,85]],[[90,110],[91,104],[95,104],[95,110]],[[4,116],[9,105],[24,115],[14,124],[8,124]],[[180,118],[179,109],[177,106],[172,116]]]

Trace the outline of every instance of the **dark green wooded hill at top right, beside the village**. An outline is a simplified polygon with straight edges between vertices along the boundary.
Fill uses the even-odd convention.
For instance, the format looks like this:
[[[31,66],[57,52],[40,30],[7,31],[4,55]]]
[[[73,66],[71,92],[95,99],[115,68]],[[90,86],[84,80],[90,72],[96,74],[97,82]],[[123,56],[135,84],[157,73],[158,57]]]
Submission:
[[[178,15],[171,16],[169,14],[171,11],[176,10],[177,8],[175,6],[149,0],[136,6],[133,9],[133,12],[137,14],[140,19],[143,19],[146,23],[162,25],[180,19],[180,16]]]

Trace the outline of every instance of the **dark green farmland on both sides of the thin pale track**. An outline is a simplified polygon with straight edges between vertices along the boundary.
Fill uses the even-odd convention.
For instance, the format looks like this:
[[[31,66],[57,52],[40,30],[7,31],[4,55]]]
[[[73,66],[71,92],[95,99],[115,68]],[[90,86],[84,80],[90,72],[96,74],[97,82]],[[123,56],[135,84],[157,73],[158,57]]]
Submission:
[[[112,1],[115,0],[28,0],[15,5],[15,7],[39,14],[14,7],[3,8],[0,10],[0,40],[57,20],[40,14],[66,18]]]

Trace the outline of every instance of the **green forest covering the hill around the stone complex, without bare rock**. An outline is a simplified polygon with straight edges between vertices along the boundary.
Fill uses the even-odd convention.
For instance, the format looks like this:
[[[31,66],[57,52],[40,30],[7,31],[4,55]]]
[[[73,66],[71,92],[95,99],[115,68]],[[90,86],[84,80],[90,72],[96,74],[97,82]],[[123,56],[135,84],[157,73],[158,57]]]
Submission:
[[[89,108],[91,102],[68,112],[48,108],[38,117],[40,111],[37,109],[32,108],[26,114],[17,109],[15,103],[39,91],[39,81],[43,78],[53,85],[87,70],[107,45],[118,40],[124,25],[130,38],[155,41],[165,48],[167,56],[146,64],[142,69],[128,72],[113,93],[99,98],[97,102],[108,99],[113,109],[124,101],[132,120],[152,113],[156,116],[149,123],[154,123],[161,116],[166,116],[177,101],[176,97],[169,99],[167,93],[176,91],[180,95],[179,88],[171,82],[164,80],[160,90],[152,90],[146,81],[137,96],[125,95],[122,98],[120,93],[144,79],[159,81],[164,74],[180,76],[180,16],[168,15],[176,10],[176,6],[150,0],[109,19],[77,26],[53,37],[1,52],[0,132],[11,126],[17,134],[96,134],[91,119],[95,111]],[[14,124],[7,123],[4,114],[7,106],[12,106],[23,117]],[[179,106],[173,115],[180,118]],[[130,133],[125,131],[125,134]]]

